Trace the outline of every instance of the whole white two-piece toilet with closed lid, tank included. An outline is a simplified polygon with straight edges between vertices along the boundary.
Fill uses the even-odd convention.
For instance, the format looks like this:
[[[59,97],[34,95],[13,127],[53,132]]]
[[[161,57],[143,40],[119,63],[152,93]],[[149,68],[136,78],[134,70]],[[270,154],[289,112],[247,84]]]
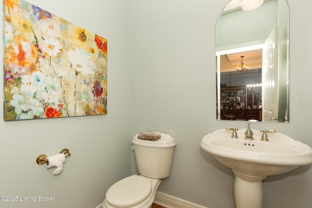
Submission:
[[[162,178],[170,175],[175,140],[165,133],[156,141],[141,140],[135,135],[132,149],[135,151],[137,169],[141,175],[124,178],[107,192],[103,208],[150,208]]]

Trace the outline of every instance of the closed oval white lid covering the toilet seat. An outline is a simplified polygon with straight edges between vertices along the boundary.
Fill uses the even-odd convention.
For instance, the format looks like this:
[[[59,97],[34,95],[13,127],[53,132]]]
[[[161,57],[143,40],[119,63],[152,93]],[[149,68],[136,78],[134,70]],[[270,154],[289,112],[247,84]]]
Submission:
[[[151,191],[151,179],[132,175],[111,186],[106,192],[106,201],[117,208],[131,207],[144,201]]]

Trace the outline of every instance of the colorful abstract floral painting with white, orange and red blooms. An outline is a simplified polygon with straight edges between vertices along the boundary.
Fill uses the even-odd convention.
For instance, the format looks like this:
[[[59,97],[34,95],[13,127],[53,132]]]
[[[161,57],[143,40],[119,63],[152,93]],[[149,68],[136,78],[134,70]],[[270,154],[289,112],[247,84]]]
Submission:
[[[107,39],[3,0],[4,120],[107,113]]]

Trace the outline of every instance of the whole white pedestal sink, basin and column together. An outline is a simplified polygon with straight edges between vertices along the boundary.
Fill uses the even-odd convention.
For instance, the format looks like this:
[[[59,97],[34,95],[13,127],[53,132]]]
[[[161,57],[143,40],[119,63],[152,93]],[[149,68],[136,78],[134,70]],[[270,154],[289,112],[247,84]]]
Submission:
[[[270,141],[261,141],[262,132],[254,130],[254,140],[245,139],[245,131],[231,138],[227,129],[204,136],[200,146],[216,160],[234,171],[236,208],[262,208],[262,180],[312,163],[312,149],[281,133],[270,133]]]

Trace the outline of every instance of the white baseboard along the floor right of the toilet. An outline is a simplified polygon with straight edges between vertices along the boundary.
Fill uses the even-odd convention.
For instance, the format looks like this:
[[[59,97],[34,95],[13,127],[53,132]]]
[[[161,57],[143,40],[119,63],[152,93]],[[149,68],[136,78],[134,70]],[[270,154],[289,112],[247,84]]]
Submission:
[[[159,191],[156,191],[154,203],[165,208],[206,208]]]

